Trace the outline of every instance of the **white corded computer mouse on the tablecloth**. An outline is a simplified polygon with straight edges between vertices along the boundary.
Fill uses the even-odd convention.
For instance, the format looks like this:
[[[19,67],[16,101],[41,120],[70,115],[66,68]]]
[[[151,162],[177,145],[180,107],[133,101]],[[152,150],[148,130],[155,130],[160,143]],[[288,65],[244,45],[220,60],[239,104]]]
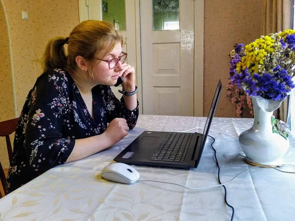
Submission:
[[[101,171],[101,177],[125,184],[132,184],[139,179],[139,172],[132,166],[122,163],[113,163],[105,166]]]

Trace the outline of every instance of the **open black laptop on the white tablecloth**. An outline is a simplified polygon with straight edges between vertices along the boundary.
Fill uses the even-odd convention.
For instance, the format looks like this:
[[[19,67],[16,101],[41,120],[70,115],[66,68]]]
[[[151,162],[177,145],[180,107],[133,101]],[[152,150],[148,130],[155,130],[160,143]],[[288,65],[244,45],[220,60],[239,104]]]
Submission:
[[[196,168],[201,160],[220,92],[219,80],[203,134],[144,131],[114,161],[134,165]]]

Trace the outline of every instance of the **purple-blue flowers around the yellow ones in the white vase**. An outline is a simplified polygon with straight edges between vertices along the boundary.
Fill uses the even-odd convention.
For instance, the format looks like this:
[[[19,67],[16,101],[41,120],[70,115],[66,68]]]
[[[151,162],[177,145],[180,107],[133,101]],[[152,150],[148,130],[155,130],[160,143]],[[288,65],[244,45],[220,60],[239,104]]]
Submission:
[[[289,57],[295,51],[295,34],[287,35],[285,42],[283,39],[280,39],[280,43],[284,52],[276,57],[276,66],[273,67],[270,63],[270,65],[266,66],[266,70],[258,73],[253,73],[251,70],[251,65],[254,66],[254,64],[250,64],[250,69],[236,70],[237,63],[241,61],[242,56],[245,56],[244,45],[236,45],[236,54],[231,57],[229,62],[231,65],[229,72],[232,84],[239,89],[242,86],[243,88],[245,87],[245,93],[249,96],[260,95],[266,99],[273,100],[285,98],[287,93],[295,88],[292,76],[284,68],[286,67],[284,55]]]

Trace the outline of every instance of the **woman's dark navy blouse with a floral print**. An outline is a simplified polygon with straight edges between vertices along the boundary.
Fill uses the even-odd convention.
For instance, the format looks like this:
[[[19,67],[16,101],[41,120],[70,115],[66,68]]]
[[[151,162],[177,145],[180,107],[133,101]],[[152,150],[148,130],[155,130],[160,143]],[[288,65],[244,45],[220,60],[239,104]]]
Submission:
[[[7,177],[8,193],[64,164],[75,139],[102,134],[114,118],[125,118],[130,129],[135,127],[138,103],[135,110],[128,110],[123,98],[119,101],[110,86],[93,87],[92,102],[94,119],[77,85],[61,69],[49,70],[37,79],[17,124]]]

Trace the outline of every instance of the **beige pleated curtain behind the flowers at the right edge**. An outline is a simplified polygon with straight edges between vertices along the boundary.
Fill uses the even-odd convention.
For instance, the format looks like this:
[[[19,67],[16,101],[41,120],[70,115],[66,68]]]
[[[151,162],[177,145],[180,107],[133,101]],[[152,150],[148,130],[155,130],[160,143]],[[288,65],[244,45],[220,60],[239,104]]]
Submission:
[[[291,28],[292,0],[263,0],[262,35]],[[287,122],[288,99],[279,108],[280,120]]]

